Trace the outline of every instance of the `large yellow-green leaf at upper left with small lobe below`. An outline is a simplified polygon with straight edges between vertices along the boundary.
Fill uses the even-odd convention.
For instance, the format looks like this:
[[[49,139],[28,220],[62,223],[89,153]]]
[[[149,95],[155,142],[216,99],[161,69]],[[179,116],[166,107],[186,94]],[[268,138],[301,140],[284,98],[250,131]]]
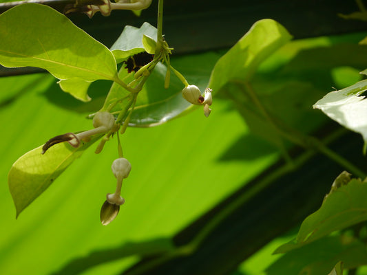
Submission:
[[[87,85],[98,79],[114,80],[112,52],[63,14],[46,6],[26,3],[0,15],[0,64],[5,67],[40,67],[63,81],[83,83],[61,87],[88,100]],[[78,87],[83,86],[83,91]]]

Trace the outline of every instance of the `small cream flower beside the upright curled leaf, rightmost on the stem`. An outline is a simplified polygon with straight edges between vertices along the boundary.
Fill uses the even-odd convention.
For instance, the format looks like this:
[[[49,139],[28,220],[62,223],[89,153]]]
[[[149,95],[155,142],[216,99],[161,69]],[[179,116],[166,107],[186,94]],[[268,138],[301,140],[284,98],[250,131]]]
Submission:
[[[204,114],[206,117],[209,116],[211,109],[209,106],[213,102],[210,88],[205,89],[204,96],[202,96],[200,89],[196,85],[188,85],[182,89],[182,97],[188,102],[195,105],[204,105]]]

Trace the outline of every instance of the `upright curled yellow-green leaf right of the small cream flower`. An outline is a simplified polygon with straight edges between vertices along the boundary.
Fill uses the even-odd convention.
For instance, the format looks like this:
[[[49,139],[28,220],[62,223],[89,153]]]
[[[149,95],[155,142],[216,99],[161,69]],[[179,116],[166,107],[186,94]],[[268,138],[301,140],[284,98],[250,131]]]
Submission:
[[[286,29],[271,19],[256,22],[227,54],[216,63],[209,87],[219,91],[232,80],[249,81],[258,66],[291,40]]]

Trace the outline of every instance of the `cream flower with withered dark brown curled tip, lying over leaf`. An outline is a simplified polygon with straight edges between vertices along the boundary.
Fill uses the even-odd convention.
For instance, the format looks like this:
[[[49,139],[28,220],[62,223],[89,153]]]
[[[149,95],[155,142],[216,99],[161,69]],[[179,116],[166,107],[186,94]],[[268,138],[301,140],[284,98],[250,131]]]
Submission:
[[[115,123],[114,115],[108,112],[98,112],[94,115],[93,126],[94,129],[84,131],[81,133],[64,133],[63,135],[56,135],[48,140],[42,147],[42,154],[48,151],[48,148],[60,142],[69,142],[69,144],[77,148],[81,144],[81,140],[89,140],[92,135],[107,133],[112,129]]]

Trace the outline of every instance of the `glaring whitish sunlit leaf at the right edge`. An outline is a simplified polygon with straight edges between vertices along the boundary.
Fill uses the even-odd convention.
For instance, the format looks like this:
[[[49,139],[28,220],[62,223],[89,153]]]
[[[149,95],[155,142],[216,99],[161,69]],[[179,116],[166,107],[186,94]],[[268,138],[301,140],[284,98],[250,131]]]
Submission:
[[[360,133],[363,136],[365,147],[367,144],[367,101],[361,94],[366,89],[367,80],[361,80],[339,91],[331,91],[313,105],[313,108],[322,110],[329,118],[342,126]]]

